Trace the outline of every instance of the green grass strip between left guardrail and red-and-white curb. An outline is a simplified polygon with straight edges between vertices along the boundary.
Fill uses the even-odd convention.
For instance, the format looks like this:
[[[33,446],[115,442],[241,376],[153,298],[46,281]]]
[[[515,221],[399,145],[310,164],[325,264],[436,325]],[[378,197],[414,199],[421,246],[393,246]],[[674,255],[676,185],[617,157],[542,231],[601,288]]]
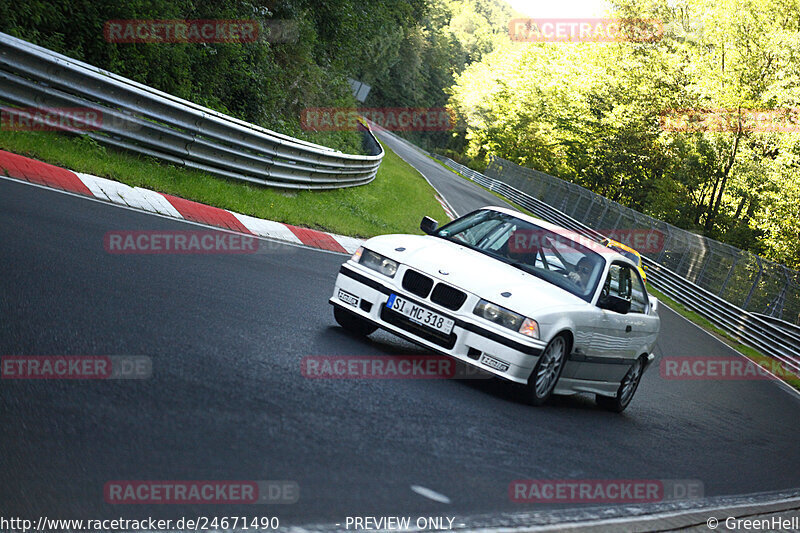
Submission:
[[[446,218],[433,188],[385,146],[386,155],[372,183],[331,191],[285,191],[228,180],[107,148],[86,136],[0,131],[0,149],[132,187],[354,237],[419,234],[424,215]]]

